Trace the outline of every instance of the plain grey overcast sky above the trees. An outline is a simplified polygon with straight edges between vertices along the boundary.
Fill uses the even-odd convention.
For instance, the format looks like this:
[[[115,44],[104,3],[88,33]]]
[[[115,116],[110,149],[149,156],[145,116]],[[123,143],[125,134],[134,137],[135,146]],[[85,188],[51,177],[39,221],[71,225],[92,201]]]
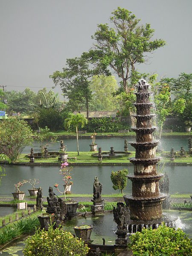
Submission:
[[[140,24],[150,23],[154,38],[167,42],[138,71],[159,77],[192,73],[192,0],[0,0],[0,85],[50,90],[49,75],[62,70],[66,58],[88,51],[97,24],[110,23],[118,6]],[[54,91],[61,94],[59,87]]]

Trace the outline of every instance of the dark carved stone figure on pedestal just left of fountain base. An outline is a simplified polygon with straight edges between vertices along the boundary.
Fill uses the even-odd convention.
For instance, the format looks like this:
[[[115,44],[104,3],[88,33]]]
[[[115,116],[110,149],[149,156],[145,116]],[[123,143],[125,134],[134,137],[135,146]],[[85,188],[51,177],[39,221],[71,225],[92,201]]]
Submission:
[[[113,218],[118,230],[127,230],[127,212],[128,209],[122,202],[118,202],[117,207],[113,207]]]

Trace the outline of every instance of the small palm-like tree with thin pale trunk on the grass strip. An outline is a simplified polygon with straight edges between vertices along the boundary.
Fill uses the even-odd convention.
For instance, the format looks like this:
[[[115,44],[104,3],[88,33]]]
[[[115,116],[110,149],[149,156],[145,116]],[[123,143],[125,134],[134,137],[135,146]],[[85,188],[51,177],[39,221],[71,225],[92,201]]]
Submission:
[[[77,139],[77,154],[79,155],[79,140],[78,140],[78,128],[83,128],[86,125],[88,120],[81,114],[73,114],[70,113],[69,116],[64,121],[64,126],[68,129],[72,128],[76,131],[76,139]]]

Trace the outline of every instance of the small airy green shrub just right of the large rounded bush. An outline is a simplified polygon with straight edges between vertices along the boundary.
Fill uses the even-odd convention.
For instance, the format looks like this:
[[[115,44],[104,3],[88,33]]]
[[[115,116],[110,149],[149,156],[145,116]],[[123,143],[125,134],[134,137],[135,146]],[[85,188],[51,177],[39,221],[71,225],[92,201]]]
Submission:
[[[45,128],[40,128],[40,132],[34,133],[34,138],[37,142],[41,143],[40,148],[41,152],[44,152],[44,148],[48,147],[50,144],[53,144],[57,141],[57,136],[50,131],[50,129],[45,126]]]

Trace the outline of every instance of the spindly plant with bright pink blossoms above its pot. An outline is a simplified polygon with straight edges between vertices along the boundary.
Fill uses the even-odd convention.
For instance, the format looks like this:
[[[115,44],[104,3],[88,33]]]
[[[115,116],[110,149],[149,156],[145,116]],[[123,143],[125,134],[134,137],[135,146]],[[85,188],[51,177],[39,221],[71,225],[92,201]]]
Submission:
[[[58,184],[54,184],[55,189],[58,190],[58,192],[60,192],[61,194],[64,194],[64,197],[66,199],[66,193],[70,193],[71,192],[71,185],[73,185],[73,181],[71,180],[71,175],[70,172],[72,171],[72,168],[67,167],[69,165],[69,163],[65,162],[61,164],[61,169],[60,169],[60,174],[63,176],[62,180],[64,181],[64,192],[61,192],[58,189]]]

